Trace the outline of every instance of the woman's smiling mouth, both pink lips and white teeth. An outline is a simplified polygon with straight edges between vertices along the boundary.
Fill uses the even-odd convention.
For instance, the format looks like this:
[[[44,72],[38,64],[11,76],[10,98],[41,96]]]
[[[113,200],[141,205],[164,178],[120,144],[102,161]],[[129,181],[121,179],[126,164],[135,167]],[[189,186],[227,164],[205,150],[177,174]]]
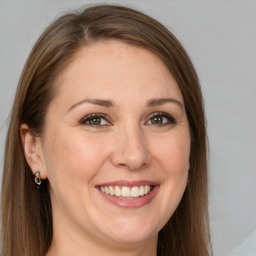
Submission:
[[[95,188],[105,201],[121,208],[132,209],[150,203],[159,185],[149,181],[116,181],[98,184]]]

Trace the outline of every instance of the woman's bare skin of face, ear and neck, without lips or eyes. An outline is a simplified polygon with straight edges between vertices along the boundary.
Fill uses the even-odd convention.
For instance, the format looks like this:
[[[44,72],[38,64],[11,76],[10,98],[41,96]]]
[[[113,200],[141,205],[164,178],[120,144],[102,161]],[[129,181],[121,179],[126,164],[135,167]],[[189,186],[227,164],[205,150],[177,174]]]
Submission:
[[[33,137],[21,125],[32,172],[49,180],[47,256],[155,256],[157,233],[176,209],[189,169],[188,121],[175,79],[152,52],[116,41],[81,49],[61,78],[44,134]],[[113,106],[81,102],[88,98]],[[146,105],[155,98],[179,103]],[[94,113],[103,114],[100,125],[84,118]],[[152,123],[152,113],[162,124]],[[95,187],[115,180],[150,180],[158,189],[146,205],[125,209]]]

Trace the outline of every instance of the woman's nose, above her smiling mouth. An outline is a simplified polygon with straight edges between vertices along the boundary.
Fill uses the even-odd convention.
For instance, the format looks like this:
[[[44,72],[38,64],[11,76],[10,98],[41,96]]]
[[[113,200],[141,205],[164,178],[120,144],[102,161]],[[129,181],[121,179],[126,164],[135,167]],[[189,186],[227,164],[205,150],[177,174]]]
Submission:
[[[125,128],[117,132],[112,164],[129,170],[138,170],[147,166],[151,156],[147,148],[145,134],[141,129]]]

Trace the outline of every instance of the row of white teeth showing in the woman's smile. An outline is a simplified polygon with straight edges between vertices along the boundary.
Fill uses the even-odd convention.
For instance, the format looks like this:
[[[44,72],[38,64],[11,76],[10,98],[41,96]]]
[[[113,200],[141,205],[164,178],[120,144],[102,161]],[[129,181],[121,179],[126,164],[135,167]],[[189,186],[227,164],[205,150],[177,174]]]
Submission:
[[[100,191],[109,195],[122,197],[139,197],[149,193],[153,189],[151,185],[138,186],[100,186]]]

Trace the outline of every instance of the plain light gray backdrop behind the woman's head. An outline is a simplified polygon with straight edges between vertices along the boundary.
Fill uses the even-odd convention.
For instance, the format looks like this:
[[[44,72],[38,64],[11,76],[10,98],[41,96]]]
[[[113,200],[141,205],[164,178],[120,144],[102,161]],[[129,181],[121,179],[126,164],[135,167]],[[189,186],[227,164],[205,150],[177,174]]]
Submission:
[[[0,0],[0,157],[24,61],[57,13],[86,0]],[[111,0],[152,15],[180,39],[201,80],[210,141],[214,255],[256,227],[256,1]],[[0,166],[2,171],[2,164]]]

